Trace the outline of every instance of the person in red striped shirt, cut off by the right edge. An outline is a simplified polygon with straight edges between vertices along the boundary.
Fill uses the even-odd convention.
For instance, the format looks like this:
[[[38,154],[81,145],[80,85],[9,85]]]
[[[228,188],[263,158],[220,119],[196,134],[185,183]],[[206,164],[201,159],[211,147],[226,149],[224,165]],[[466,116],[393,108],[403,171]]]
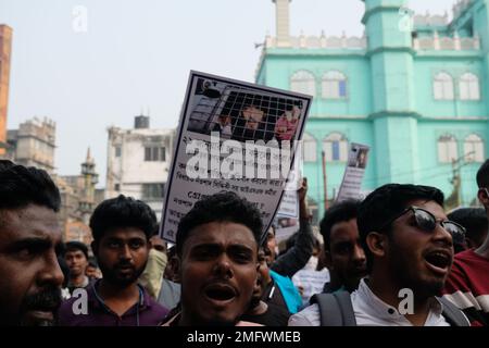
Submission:
[[[489,160],[477,172],[477,197],[489,217]],[[455,256],[444,293],[473,326],[489,325],[489,236],[480,247]]]

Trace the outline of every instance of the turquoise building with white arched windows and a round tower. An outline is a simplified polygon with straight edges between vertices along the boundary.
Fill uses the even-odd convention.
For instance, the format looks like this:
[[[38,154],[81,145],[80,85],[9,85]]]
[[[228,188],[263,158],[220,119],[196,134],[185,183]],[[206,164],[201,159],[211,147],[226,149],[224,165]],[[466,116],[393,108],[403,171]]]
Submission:
[[[450,21],[415,15],[405,0],[364,0],[363,37],[292,37],[290,0],[273,2],[277,36],[265,39],[255,80],[314,96],[303,158],[316,214],[338,191],[350,142],[372,148],[365,191],[414,183],[439,187],[451,208],[476,203],[489,138],[488,0],[459,1]]]

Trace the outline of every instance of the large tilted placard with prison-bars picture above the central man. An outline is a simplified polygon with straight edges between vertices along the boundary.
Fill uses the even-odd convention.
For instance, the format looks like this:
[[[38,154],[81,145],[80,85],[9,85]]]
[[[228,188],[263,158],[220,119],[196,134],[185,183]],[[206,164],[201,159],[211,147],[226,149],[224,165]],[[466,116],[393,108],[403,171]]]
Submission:
[[[311,100],[301,94],[191,72],[160,235],[174,243],[179,220],[195,202],[222,190],[253,203],[267,231],[291,173]],[[292,182],[298,181],[292,177]]]

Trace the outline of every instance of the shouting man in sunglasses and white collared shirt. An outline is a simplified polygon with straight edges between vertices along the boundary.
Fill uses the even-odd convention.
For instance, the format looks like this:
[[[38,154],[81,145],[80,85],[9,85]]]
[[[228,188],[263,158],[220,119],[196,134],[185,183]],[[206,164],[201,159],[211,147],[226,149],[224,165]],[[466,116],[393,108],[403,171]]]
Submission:
[[[351,306],[342,303],[343,320],[336,325],[468,325],[460,310],[436,297],[453,261],[451,233],[464,233],[462,226],[448,221],[439,189],[381,186],[360,204],[358,226],[368,276],[351,294]],[[292,315],[289,325],[324,324],[319,313],[325,313],[323,308],[313,304],[297,314],[302,318]]]

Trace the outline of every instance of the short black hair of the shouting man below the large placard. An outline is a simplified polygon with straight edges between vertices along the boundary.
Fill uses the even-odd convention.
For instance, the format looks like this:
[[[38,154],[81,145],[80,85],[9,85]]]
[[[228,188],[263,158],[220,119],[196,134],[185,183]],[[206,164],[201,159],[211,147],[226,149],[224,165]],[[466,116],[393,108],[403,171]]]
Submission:
[[[254,239],[256,240],[256,245],[260,245],[263,231],[260,211],[248,200],[239,197],[235,192],[222,191],[199,200],[193,208],[181,217],[176,235],[177,254],[181,256],[184,244],[195,227],[211,222],[233,222],[242,224],[251,229]]]

